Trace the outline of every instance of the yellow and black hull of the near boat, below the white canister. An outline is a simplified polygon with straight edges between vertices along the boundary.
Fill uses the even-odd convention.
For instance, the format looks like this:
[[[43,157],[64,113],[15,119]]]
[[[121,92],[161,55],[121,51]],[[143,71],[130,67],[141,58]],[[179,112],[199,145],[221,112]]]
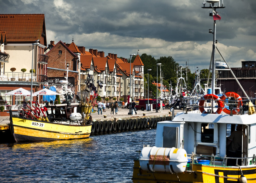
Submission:
[[[243,175],[248,183],[256,181],[256,166],[241,167]],[[189,170],[191,169],[191,170]],[[203,164],[188,164],[184,173],[150,172],[140,168],[139,160],[134,160],[133,182],[134,183],[231,183],[237,182],[241,177],[238,167],[211,166]]]

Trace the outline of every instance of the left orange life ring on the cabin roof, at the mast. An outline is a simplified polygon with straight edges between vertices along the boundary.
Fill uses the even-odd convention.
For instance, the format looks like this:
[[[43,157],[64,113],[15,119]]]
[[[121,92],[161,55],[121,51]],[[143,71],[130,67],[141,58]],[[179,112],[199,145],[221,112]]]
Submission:
[[[208,99],[213,99],[218,103],[217,111],[211,112],[211,113],[220,114],[222,111],[222,108],[224,107],[223,102],[220,101],[220,98],[217,95],[213,95],[213,94],[207,94],[207,95],[204,95],[203,97],[201,97],[200,102],[198,104],[199,110],[201,111],[201,113],[208,113],[204,110],[204,102],[205,102],[205,100],[208,100]]]

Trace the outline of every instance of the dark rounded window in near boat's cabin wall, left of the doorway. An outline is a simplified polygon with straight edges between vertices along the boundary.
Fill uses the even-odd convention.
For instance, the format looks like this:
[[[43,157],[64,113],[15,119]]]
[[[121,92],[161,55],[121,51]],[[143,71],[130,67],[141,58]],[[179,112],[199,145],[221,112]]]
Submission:
[[[214,124],[201,124],[201,142],[213,143]]]

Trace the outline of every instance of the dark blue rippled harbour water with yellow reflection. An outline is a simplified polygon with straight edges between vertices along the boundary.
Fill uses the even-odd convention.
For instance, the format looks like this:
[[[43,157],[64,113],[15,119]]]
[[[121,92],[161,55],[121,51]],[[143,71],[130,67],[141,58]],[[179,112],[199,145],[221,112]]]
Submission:
[[[156,129],[87,139],[0,144],[0,182],[132,182],[143,144]]]

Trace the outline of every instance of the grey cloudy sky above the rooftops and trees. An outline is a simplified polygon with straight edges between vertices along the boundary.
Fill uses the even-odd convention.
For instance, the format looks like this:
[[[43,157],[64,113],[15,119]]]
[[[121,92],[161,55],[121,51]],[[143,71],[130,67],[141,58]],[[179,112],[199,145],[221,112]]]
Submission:
[[[222,0],[220,0],[222,3]],[[230,67],[256,60],[256,1],[223,0],[217,47]],[[213,35],[204,0],[0,0],[2,14],[45,14],[51,40],[117,54],[172,56],[191,70],[209,69]],[[209,6],[209,3],[206,3]],[[216,59],[220,59],[216,54]]]

